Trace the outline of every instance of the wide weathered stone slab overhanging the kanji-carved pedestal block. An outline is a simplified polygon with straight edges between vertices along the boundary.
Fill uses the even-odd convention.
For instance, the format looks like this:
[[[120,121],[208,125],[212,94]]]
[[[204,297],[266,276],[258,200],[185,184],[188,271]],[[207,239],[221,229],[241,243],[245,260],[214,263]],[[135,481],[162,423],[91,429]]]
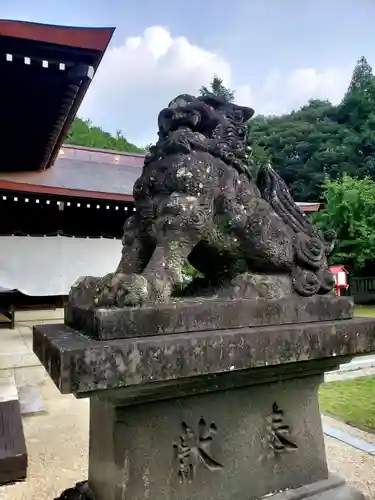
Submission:
[[[300,362],[339,365],[374,350],[375,320],[366,318],[108,341],[64,325],[34,327],[34,352],[63,393],[279,365],[298,371]]]

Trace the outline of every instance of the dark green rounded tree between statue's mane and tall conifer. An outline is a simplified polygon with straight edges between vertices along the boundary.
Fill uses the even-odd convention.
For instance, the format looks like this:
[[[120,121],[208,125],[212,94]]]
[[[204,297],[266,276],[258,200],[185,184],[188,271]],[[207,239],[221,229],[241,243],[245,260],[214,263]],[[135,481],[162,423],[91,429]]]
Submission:
[[[335,111],[328,101],[311,100],[290,114],[249,123],[251,148],[268,156],[297,201],[319,200],[325,175],[350,170],[352,137],[335,121]]]

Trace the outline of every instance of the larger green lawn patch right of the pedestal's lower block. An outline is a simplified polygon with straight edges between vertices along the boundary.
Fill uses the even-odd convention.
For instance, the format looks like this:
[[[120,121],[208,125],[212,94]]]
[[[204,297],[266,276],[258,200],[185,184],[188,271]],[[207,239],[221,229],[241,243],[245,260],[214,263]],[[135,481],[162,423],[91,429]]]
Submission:
[[[375,377],[323,384],[319,401],[323,413],[375,430]]]

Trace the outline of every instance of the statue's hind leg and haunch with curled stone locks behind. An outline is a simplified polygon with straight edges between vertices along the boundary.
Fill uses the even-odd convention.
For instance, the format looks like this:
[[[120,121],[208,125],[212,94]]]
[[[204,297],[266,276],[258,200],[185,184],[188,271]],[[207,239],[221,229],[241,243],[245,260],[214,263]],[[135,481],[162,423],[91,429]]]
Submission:
[[[231,287],[242,296],[269,298],[295,292],[310,296],[323,290],[323,242],[293,231],[251,188],[248,184],[236,199],[226,200],[233,235],[242,242],[251,270],[234,279]],[[229,288],[223,293],[231,296],[232,292]]]

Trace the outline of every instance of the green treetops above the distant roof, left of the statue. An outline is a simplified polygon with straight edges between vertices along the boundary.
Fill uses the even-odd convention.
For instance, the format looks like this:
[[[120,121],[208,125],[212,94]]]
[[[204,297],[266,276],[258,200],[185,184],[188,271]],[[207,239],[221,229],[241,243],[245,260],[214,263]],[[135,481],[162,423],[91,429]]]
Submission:
[[[121,130],[118,130],[114,137],[100,127],[92,125],[90,120],[82,120],[81,118],[75,118],[65,143],[99,149],[113,149],[126,153],[143,153],[143,149],[125,139]]]

